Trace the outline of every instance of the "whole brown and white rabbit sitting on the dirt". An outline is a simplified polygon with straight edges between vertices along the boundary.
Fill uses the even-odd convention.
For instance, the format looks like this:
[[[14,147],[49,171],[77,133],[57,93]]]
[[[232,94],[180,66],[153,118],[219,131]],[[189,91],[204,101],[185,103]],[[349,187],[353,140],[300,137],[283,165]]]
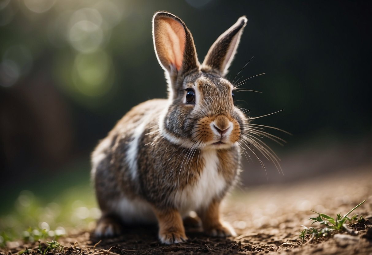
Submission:
[[[213,43],[202,64],[185,23],[153,16],[156,57],[168,99],[133,107],[92,153],[92,179],[102,217],[95,235],[119,235],[123,223],[158,223],[161,243],[187,240],[183,219],[196,212],[211,236],[236,236],[222,222],[222,199],[237,183],[247,117],[234,106],[224,77],[247,18]]]

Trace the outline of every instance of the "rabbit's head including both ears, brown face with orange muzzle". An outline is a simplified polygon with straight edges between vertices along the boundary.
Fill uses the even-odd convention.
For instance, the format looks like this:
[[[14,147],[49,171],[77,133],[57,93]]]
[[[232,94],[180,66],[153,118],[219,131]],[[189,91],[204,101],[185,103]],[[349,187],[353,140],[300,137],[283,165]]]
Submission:
[[[200,64],[185,23],[171,13],[155,13],[154,47],[169,91],[169,107],[160,119],[160,129],[171,142],[222,149],[242,139],[246,117],[234,106],[234,87],[224,76],[246,23],[246,17],[240,17],[213,43]]]

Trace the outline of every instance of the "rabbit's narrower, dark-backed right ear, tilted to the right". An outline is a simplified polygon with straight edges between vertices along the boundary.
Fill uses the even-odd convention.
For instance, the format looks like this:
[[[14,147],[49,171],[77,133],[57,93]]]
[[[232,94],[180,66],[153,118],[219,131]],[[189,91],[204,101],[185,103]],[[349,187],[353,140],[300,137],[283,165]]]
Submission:
[[[241,16],[231,28],[217,38],[205,56],[204,68],[217,70],[221,76],[227,74],[246,24],[246,16]]]

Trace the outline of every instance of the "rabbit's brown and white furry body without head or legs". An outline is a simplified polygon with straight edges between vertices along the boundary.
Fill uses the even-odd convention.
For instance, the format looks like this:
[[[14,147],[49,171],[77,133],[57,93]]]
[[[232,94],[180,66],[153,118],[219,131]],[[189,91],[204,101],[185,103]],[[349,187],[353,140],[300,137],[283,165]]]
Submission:
[[[175,207],[187,216],[224,197],[237,177],[237,147],[192,151],[153,131],[166,104],[167,100],[150,100],[134,107],[93,153],[98,159],[92,174],[99,205],[126,223],[156,220],[147,201]]]

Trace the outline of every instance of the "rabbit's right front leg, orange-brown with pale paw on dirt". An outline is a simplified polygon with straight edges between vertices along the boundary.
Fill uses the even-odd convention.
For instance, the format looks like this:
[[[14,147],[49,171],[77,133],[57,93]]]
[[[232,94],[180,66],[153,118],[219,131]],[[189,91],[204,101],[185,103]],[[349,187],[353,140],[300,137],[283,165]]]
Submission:
[[[209,206],[198,211],[202,219],[204,232],[211,236],[236,236],[234,229],[227,222],[219,218],[219,205],[221,201],[212,201]]]

